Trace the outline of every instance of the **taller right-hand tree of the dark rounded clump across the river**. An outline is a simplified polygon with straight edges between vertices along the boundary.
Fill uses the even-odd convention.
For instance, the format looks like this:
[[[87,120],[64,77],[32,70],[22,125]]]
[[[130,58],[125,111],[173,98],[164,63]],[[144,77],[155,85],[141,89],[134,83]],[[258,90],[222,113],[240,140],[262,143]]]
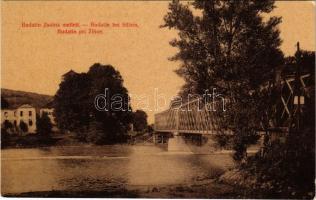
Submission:
[[[91,66],[87,74],[91,80],[90,102],[94,102],[99,94],[108,98],[104,105],[106,111],[99,111],[93,106],[91,121],[102,123],[104,143],[125,140],[132,122],[132,110],[121,74],[111,65],[100,64]]]

